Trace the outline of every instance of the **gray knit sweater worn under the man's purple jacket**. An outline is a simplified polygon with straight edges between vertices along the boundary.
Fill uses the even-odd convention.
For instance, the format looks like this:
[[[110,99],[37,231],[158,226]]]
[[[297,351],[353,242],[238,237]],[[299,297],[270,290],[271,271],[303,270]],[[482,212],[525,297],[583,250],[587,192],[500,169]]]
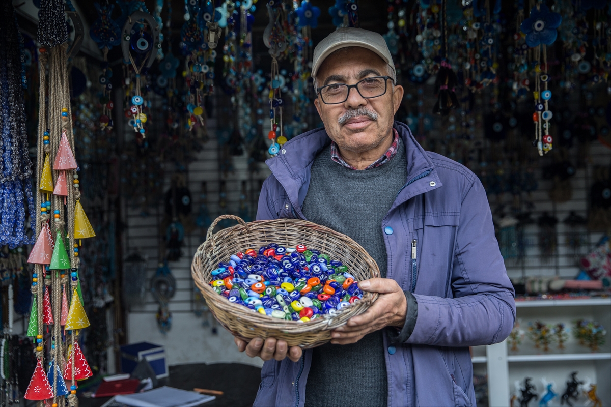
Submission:
[[[382,219],[407,178],[401,143],[397,154],[369,170],[351,170],[331,160],[331,146],[316,156],[305,196],[307,220],[348,235],[367,250],[386,278]],[[382,331],[356,344],[314,348],[305,406],[386,406],[386,361]]]

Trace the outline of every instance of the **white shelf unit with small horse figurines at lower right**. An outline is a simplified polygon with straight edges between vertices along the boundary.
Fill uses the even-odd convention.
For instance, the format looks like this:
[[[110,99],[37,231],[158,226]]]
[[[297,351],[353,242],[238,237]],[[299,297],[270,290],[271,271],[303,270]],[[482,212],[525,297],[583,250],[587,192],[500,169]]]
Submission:
[[[563,322],[572,329],[577,319],[596,320],[607,330],[605,344],[597,352],[577,344],[569,332],[566,349],[555,345],[544,353],[533,347],[525,338],[518,352],[508,350],[507,340],[485,347],[486,356],[481,356],[484,347],[474,347],[472,358],[476,370],[485,364],[488,373],[488,401],[491,407],[508,406],[514,383],[522,382],[525,376],[532,378],[538,394],[543,393],[541,378],[554,381],[554,391],[560,395],[565,391],[569,374],[578,371],[580,380],[598,384],[598,396],[603,406],[611,406],[611,298],[585,298],[576,300],[516,301],[516,318],[521,328],[528,330],[528,323],[541,320],[544,323]],[[579,403],[582,403],[582,398]],[[583,405],[577,403],[578,405]],[[560,397],[554,398],[549,407],[560,406]]]

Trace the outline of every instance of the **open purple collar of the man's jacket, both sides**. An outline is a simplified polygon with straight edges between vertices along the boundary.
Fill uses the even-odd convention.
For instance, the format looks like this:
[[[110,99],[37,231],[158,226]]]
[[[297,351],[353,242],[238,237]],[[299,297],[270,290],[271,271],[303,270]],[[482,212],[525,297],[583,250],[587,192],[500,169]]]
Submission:
[[[406,151],[408,178],[390,210],[415,195],[442,186],[433,161],[414,139],[408,125],[395,121],[393,127],[397,129]],[[325,129],[314,129],[289,140],[282,146],[276,157],[271,157],[265,162],[284,187],[288,200],[301,218],[304,218],[301,206],[310,185],[312,162],[316,155],[329,144],[331,144],[331,139]]]

